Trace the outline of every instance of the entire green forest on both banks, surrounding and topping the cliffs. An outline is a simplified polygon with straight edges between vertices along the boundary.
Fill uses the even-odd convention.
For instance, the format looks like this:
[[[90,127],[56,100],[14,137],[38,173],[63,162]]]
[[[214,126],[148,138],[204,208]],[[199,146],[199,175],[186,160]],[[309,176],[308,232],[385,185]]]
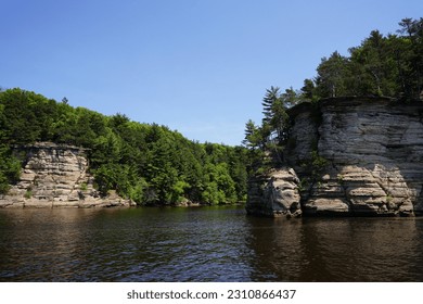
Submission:
[[[110,190],[139,204],[245,201],[246,183],[283,163],[289,109],[342,96],[385,96],[398,102],[423,99],[423,18],[405,18],[396,34],[373,30],[349,55],[323,58],[317,76],[299,90],[271,87],[264,118],[246,123],[244,147],[198,143],[165,126],[105,116],[22,89],[0,91],[0,193],[20,176],[13,148],[52,141],[89,149],[91,173],[102,194]],[[322,162],[311,155],[313,163]]]

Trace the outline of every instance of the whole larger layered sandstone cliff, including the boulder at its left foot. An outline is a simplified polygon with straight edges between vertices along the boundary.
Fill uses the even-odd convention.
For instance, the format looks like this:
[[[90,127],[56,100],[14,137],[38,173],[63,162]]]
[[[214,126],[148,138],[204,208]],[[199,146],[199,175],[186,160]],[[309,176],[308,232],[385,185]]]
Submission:
[[[299,201],[306,215],[423,214],[423,103],[339,98],[290,114],[285,167],[253,181],[248,213],[291,216]]]

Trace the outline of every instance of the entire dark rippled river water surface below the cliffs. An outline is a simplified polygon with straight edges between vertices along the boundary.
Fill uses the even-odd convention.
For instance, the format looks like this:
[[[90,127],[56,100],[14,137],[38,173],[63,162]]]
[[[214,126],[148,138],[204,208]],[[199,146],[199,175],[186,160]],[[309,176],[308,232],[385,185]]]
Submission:
[[[1,210],[0,281],[423,281],[423,218]]]

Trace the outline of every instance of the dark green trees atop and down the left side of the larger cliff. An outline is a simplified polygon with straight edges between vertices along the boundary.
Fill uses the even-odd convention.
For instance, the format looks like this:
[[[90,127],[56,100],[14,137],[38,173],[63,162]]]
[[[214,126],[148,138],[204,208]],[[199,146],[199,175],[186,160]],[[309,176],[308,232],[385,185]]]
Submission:
[[[348,51],[349,56],[335,51],[323,58],[317,76],[305,79],[300,90],[266,91],[261,124],[248,121],[245,126],[244,144],[259,170],[283,162],[291,124],[287,110],[295,104],[345,96],[384,96],[403,103],[423,100],[423,18],[403,18],[397,33],[387,36],[373,30]],[[322,162],[318,155],[311,159]]]

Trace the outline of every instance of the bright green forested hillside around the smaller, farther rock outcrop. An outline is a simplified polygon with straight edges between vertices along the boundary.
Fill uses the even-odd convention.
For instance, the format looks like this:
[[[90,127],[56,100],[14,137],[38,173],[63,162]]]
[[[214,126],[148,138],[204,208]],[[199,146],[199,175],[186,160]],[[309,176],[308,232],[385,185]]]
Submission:
[[[0,91],[0,193],[18,177],[16,147],[37,141],[88,149],[95,187],[138,204],[245,201],[247,150],[198,143],[165,126],[105,116],[18,88]]]

